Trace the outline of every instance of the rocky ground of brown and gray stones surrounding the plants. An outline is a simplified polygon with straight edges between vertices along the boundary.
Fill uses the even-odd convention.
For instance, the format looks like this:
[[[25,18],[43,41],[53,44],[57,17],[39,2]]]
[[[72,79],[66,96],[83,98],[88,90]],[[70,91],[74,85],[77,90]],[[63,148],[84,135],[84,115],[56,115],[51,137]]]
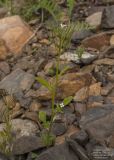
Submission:
[[[94,29],[75,32],[71,49],[60,57],[60,70],[66,65],[70,69],[60,79],[58,100],[73,96],[73,101],[56,117],[52,127],[56,142],[49,149],[40,138],[38,112],[43,110],[50,117],[51,97],[35,80],[36,76],[54,77],[56,55],[49,28],[37,20],[29,23],[31,28],[21,23],[23,31],[17,30],[21,34],[16,47],[14,39],[13,43],[11,38],[7,41],[8,35],[14,34],[12,30],[11,34],[0,34],[15,52],[9,54],[5,42],[0,42],[0,130],[4,95],[16,134],[16,160],[114,159],[114,2],[79,1],[72,19],[83,19]],[[3,21],[0,23],[2,26]],[[18,29],[18,25],[14,27]],[[26,46],[17,57],[16,51],[24,42]],[[85,47],[81,61],[74,54],[79,44]],[[0,158],[7,160],[2,154]]]

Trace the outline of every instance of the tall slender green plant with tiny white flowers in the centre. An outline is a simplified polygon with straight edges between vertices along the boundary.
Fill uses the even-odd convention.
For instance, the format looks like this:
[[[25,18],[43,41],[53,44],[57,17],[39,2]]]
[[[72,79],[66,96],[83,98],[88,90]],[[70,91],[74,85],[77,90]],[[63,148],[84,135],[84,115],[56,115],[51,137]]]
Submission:
[[[58,89],[58,82],[62,74],[66,72],[68,67],[63,68],[61,72],[59,72],[59,63],[60,63],[60,55],[64,53],[66,49],[68,49],[72,33],[74,32],[75,25],[69,24],[65,28],[61,26],[54,26],[52,27],[52,35],[53,38],[55,38],[55,46],[57,51],[57,57],[56,57],[56,75],[53,79],[53,82],[47,81],[46,79],[43,79],[41,77],[37,77],[39,83],[41,83],[43,86],[45,86],[51,95],[51,119],[47,121],[45,112],[39,112],[39,120],[42,122],[43,128],[45,129],[45,132],[42,133],[42,140],[45,143],[46,146],[50,146],[53,144],[54,137],[51,133],[52,125],[55,119],[56,114],[63,111],[63,107],[68,105],[72,101],[72,96],[67,97],[63,100],[62,103],[55,103],[56,97],[57,97],[57,89]]]

